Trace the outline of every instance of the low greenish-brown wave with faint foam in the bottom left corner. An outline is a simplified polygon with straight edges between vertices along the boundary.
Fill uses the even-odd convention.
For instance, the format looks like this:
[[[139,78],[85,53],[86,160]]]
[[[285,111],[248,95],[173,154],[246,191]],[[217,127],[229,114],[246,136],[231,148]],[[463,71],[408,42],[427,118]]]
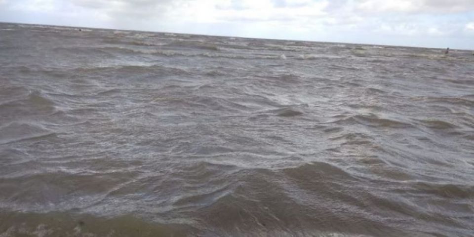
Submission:
[[[6,229],[0,230],[2,237],[119,237],[119,236],[185,236],[188,227],[179,224],[146,222],[139,217],[122,215],[101,218],[87,214],[15,213],[1,212],[0,221]]]

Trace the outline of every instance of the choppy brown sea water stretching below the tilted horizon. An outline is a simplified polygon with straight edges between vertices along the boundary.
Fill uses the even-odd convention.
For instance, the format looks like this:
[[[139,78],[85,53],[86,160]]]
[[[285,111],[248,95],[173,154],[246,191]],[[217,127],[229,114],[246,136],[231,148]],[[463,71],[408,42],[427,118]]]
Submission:
[[[0,236],[474,236],[473,72],[469,51],[0,24]]]

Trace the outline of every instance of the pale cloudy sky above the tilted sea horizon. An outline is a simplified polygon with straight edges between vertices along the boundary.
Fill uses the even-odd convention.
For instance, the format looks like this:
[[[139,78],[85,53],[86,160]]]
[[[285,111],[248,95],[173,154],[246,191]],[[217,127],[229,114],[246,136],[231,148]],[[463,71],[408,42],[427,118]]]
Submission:
[[[474,0],[0,0],[0,22],[474,49]]]

